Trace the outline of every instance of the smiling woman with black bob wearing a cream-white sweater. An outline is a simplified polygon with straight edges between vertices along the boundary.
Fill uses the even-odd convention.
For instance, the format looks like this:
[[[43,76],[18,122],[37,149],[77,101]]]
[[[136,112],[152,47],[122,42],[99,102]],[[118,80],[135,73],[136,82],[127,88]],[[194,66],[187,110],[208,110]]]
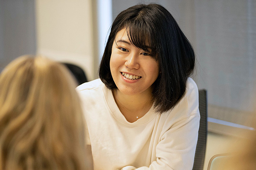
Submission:
[[[100,79],[77,88],[95,170],[191,170],[198,138],[195,56],[175,19],[157,4],[114,20]]]

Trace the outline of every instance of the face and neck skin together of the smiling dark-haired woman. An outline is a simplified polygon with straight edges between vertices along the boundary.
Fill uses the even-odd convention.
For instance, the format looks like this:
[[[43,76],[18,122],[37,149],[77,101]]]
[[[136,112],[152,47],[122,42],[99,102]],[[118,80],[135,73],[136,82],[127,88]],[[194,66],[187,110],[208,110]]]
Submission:
[[[110,58],[111,75],[117,87],[113,96],[128,122],[143,117],[152,105],[151,85],[158,77],[159,64],[148,51],[151,49],[145,51],[131,44],[126,28],[117,32]],[[137,105],[126,100],[136,101]]]

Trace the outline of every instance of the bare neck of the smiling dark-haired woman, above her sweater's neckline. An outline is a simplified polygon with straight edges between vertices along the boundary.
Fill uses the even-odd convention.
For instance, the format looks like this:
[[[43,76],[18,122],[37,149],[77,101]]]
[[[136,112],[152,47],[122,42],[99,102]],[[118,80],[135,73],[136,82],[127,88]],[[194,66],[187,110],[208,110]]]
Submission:
[[[152,106],[151,93],[141,93],[137,95],[125,95],[118,89],[113,90],[116,104],[128,122],[135,122],[143,117]]]

